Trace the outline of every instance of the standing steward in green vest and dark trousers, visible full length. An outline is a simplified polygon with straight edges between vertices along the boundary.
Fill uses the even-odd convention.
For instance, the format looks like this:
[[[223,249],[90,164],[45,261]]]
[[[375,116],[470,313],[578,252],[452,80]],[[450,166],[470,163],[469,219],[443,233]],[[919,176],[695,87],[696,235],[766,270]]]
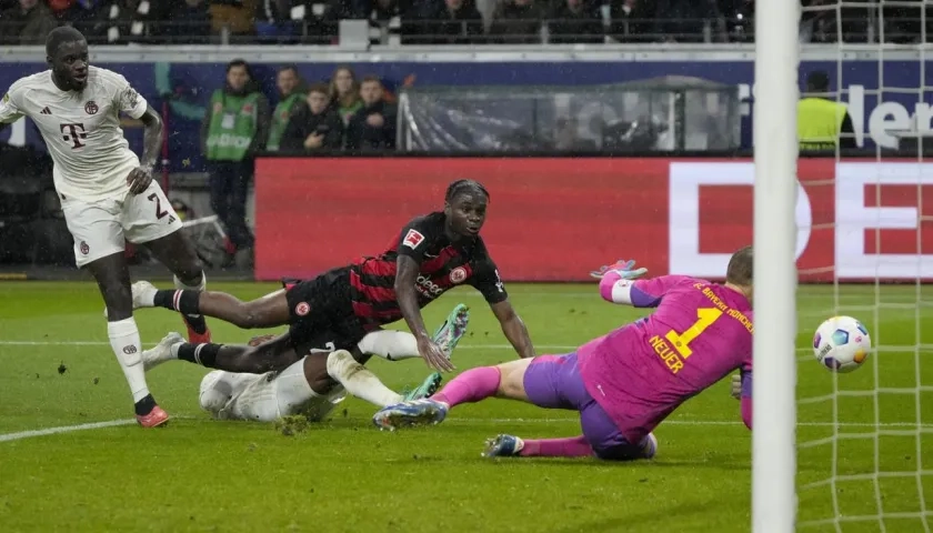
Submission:
[[[224,88],[211,94],[201,123],[201,149],[210,167],[211,208],[238,252],[253,244],[247,227],[247,191],[253,154],[264,148],[269,135],[269,102],[249,64],[242,59],[228,63]]]

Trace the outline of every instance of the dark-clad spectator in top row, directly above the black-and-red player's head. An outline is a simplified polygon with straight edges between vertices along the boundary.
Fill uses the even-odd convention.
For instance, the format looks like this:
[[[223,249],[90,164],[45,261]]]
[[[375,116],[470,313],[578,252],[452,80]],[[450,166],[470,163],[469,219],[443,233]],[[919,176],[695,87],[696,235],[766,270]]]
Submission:
[[[473,0],[424,0],[414,16],[415,23],[404,31],[415,34],[402,36],[402,42],[469,44],[482,40],[483,20]]]

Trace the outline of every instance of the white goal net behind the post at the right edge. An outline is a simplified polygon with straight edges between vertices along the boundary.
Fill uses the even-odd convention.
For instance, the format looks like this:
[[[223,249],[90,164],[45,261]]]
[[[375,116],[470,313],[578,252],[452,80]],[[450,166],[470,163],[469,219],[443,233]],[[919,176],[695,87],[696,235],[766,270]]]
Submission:
[[[797,165],[811,199],[811,239],[831,232],[820,242],[834,250],[797,259],[802,282],[827,283],[802,284],[796,299],[796,531],[933,529],[927,9],[933,16],[933,2],[916,0],[827,0],[802,9],[800,39],[809,42],[800,87],[814,70],[829,73],[830,93],[813,95],[847,105],[864,153],[801,155]],[[813,333],[833,315],[854,316],[871,334],[875,350],[854,372],[827,371],[813,356]],[[758,386],[768,375],[755,364]]]

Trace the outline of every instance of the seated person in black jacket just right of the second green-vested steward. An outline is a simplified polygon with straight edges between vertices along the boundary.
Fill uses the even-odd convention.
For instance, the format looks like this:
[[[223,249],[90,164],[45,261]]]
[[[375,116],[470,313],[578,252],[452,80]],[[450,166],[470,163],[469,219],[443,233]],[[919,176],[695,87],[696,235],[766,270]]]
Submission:
[[[329,104],[328,86],[315,83],[308,89],[308,105],[298,105],[289,120],[282,150],[289,152],[332,151],[343,148],[343,120]]]

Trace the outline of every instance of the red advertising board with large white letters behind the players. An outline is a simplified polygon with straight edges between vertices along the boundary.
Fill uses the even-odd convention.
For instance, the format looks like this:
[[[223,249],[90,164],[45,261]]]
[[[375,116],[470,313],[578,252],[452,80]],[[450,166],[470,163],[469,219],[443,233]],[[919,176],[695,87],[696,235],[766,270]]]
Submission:
[[[459,178],[490,191],[482,235],[506,281],[584,281],[619,258],[716,279],[752,241],[750,160],[269,158],[257,162],[255,276],[378,254]],[[796,229],[773,230],[796,231],[802,281],[933,280],[933,164],[804,159],[797,179]]]

